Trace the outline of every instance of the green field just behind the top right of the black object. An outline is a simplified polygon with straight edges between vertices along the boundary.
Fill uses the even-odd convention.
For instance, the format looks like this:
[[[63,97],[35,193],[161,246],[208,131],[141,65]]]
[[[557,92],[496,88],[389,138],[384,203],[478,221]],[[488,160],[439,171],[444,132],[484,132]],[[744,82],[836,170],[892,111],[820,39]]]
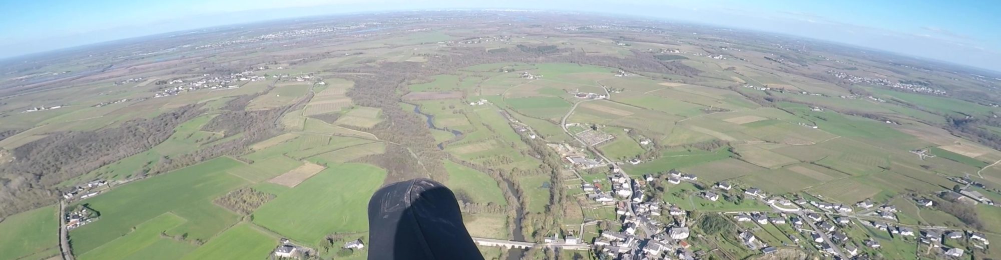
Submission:
[[[508,205],[497,182],[485,173],[447,160],[444,168],[448,171],[445,185],[454,192],[467,195],[475,203]]]

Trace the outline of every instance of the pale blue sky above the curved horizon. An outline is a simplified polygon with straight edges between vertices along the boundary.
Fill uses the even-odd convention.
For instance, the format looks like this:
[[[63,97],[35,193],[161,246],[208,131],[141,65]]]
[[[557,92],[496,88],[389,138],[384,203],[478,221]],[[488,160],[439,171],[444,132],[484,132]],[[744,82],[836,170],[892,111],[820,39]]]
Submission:
[[[1001,71],[1001,1],[0,0],[0,57],[177,30],[347,12],[602,12],[800,35]]]

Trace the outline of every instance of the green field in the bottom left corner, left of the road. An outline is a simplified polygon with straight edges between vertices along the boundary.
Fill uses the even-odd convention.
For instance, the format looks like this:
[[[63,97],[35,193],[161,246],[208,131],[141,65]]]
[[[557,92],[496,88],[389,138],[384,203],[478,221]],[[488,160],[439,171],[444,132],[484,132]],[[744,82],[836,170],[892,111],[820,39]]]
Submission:
[[[59,218],[56,210],[55,205],[47,206],[7,217],[0,222],[0,252],[4,252],[0,254],[0,259],[20,259],[46,249],[58,249]]]

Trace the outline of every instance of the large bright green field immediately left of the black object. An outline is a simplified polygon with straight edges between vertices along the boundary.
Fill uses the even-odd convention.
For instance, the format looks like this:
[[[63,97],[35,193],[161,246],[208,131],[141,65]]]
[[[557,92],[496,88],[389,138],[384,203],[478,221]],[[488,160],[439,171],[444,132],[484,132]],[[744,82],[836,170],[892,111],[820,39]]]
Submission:
[[[257,209],[254,223],[306,243],[334,232],[366,230],[368,198],[385,171],[359,163],[328,166]]]

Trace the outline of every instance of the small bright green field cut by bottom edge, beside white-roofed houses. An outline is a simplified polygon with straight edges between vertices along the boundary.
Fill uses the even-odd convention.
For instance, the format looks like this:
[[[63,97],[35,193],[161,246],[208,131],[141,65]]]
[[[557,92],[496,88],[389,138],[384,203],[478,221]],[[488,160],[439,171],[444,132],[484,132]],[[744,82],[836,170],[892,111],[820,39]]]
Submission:
[[[239,224],[182,259],[266,259],[277,246],[278,238],[256,230],[251,224]]]

